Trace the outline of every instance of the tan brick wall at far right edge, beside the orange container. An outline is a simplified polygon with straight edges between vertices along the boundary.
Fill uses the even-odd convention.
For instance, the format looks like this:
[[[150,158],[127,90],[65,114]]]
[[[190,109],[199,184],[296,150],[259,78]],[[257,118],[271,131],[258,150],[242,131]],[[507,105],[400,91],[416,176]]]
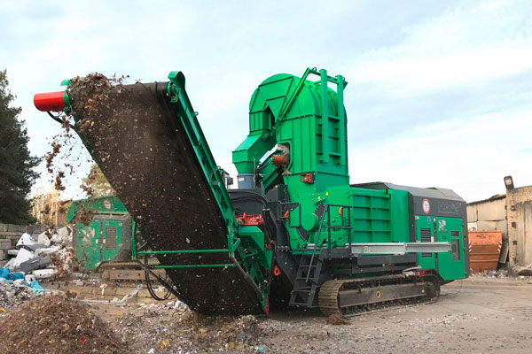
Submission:
[[[532,186],[506,190],[510,263],[532,263]]]

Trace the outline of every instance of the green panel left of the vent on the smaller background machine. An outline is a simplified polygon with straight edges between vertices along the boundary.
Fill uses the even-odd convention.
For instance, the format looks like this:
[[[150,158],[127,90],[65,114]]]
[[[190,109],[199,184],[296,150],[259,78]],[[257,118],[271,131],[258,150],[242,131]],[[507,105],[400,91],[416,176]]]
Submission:
[[[94,219],[88,226],[77,223],[75,256],[83,269],[94,269],[101,261],[101,221]]]

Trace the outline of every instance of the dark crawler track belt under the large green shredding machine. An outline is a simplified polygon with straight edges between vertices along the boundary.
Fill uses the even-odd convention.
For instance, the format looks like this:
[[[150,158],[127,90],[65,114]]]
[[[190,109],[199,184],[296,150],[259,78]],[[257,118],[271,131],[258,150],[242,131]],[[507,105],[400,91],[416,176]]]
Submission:
[[[340,312],[340,304],[338,302],[338,295],[340,289],[345,284],[364,284],[370,283],[371,281],[403,281],[408,279],[403,274],[394,274],[386,275],[381,277],[370,277],[370,278],[361,278],[361,279],[349,279],[349,280],[336,280],[336,281],[325,281],[325,283],[320,287],[318,299],[319,299],[319,308],[325,316],[332,314],[338,314],[344,317],[358,316],[368,312],[382,312],[389,311],[396,306],[403,304],[419,304],[419,302],[427,303],[434,302],[435,299],[430,299],[427,296],[416,296],[408,297],[403,299],[395,299],[390,301],[385,301],[382,303],[371,303],[371,304],[359,304],[350,308],[350,312],[342,313]],[[370,287],[371,288],[371,287]]]

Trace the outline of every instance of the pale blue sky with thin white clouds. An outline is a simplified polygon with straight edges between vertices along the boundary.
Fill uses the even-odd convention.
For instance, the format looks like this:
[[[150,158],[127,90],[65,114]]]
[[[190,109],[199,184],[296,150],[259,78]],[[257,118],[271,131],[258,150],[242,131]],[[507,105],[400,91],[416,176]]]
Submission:
[[[257,85],[317,67],[348,81],[352,183],[449,188],[468,202],[505,193],[505,175],[532,184],[530,2],[2,2],[0,43],[36,156],[59,127],[35,93],[93,72],[149,82],[180,70],[216,162],[235,176]],[[79,196],[88,168],[65,196]],[[38,170],[34,191],[51,178]]]

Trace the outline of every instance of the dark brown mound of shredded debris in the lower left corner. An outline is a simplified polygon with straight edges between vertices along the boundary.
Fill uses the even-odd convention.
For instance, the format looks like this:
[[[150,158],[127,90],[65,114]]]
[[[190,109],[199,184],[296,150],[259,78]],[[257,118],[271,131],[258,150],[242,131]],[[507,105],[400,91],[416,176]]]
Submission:
[[[89,306],[63,296],[41,296],[21,304],[0,318],[0,327],[2,353],[131,352]]]

